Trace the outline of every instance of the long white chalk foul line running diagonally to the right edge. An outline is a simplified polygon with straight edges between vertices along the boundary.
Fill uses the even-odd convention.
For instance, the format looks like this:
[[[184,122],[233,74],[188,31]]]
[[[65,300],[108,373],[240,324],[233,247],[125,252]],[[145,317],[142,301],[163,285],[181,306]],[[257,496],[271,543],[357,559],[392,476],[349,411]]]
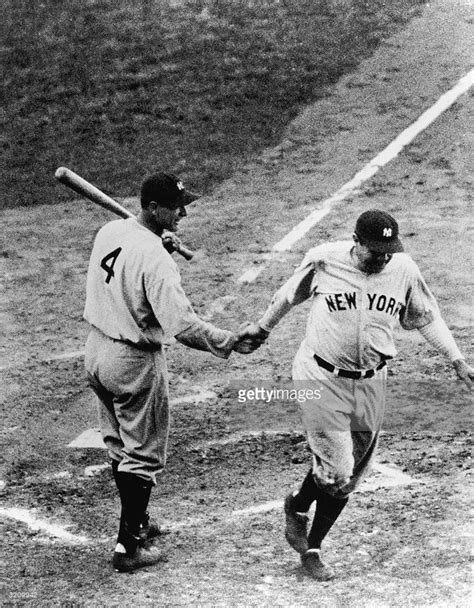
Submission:
[[[457,84],[442,95],[409,127],[402,131],[382,152],[377,154],[365,167],[356,173],[354,177],[344,184],[333,196],[324,200],[318,209],[314,209],[304,220],[297,224],[278,243],[273,245],[270,254],[260,258],[258,267],[247,269],[238,279],[238,283],[252,283],[263,272],[267,264],[277,257],[278,254],[289,251],[293,245],[303,238],[318,222],[328,215],[334,205],[342,202],[350,194],[353,194],[365,181],[373,177],[379,169],[393,160],[398,154],[411,143],[417,135],[433,123],[440,114],[450,108],[455,101],[474,84],[474,69],[463,76]]]

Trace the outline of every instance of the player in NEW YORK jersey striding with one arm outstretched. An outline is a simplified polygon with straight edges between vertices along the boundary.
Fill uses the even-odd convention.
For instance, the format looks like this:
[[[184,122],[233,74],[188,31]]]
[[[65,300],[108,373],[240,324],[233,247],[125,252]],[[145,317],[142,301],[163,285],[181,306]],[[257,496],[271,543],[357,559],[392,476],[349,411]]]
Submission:
[[[363,213],[352,241],[311,249],[263,317],[247,328],[248,335],[266,339],[293,306],[309,298],[312,306],[293,381],[301,388],[321,388],[321,399],[301,405],[313,463],[300,489],[285,499],[285,536],[307,573],[324,581],[334,572],[321,559],[321,543],[375,456],[397,324],[417,329],[469,388],[474,370],[418,266],[403,253],[396,220],[384,211]],[[314,502],[308,532],[307,512]]]

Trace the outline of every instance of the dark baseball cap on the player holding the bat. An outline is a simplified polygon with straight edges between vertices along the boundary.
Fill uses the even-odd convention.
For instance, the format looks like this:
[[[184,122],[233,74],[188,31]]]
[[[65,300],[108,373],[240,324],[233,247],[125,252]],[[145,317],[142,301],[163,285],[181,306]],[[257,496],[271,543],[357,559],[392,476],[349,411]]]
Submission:
[[[197,198],[198,194],[189,192],[183,182],[173,173],[155,173],[147,177],[142,184],[140,201],[142,207],[154,201],[161,207],[177,209],[189,205]]]

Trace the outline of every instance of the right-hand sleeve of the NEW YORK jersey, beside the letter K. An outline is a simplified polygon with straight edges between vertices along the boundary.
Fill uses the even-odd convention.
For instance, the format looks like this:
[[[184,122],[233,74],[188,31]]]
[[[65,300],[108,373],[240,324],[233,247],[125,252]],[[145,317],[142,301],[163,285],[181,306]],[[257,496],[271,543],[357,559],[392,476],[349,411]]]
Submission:
[[[440,316],[438,304],[418,266],[411,261],[406,305],[400,314],[403,329],[420,329]]]

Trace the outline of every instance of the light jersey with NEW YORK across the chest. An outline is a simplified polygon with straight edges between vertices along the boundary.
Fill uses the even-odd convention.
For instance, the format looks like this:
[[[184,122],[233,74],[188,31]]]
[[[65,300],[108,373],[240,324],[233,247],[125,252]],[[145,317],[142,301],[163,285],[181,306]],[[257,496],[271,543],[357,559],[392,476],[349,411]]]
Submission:
[[[353,245],[311,249],[279,294],[290,304],[312,298],[305,342],[314,353],[344,369],[371,369],[396,355],[399,322],[405,329],[422,327],[439,311],[407,254],[396,253],[382,272],[366,274],[351,260]]]

